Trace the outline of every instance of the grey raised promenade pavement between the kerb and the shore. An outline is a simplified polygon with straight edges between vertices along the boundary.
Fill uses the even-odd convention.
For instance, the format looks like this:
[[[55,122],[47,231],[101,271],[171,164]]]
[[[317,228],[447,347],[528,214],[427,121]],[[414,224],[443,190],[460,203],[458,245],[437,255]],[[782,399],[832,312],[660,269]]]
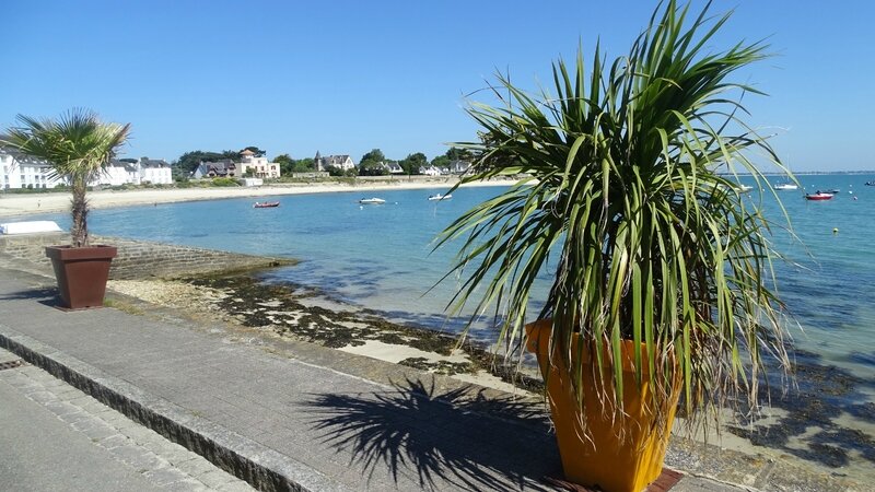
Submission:
[[[128,301],[65,313],[52,278],[0,267],[0,348],[261,490],[555,490],[542,479],[561,477],[540,405]],[[667,464],[692,473],[680,492],[848,490],[674,446]]]

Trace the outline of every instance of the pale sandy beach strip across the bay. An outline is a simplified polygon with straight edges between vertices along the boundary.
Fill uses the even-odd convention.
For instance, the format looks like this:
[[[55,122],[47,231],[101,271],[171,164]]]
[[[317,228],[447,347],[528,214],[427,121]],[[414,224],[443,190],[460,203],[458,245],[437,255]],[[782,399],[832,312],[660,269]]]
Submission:
[[[266,185],[258,187],[229,188],[148,188],[133,190],[90,191],[89,204],[92,210],[115,207],[136,207],[184,201],[222,200],[228,198],[260,198],[287,195],[331,194],[353,191],[382,191],[402,189],[447,189],[458,183],[457,177],[386,179],[378,181],[357,180],[345,183],[304,183]],[[466,184],[465,187],[508,186],[513,180],[494,180]],[[0,218],[31,215],[37,213],[66,212],[70,209],[69,192],[0,195]]]

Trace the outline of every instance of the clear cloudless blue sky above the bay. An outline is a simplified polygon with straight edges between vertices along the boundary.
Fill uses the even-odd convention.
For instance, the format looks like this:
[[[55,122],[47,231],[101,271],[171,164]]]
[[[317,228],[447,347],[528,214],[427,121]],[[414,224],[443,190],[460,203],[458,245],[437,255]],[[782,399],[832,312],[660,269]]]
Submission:
[[[696,1],[701,5],[701,1]],[[389,159],[474,139],[494,71],[535,90],[596,39],[628,51],[655,1],[2,0],[0,125],[81,106],[130,122],[125,156],[257,145]],[[875,2],[716,0],[720,37],[768,38],[748,120],[793,171],[875,168]],[[477,94],[472,96],[477,98]]]

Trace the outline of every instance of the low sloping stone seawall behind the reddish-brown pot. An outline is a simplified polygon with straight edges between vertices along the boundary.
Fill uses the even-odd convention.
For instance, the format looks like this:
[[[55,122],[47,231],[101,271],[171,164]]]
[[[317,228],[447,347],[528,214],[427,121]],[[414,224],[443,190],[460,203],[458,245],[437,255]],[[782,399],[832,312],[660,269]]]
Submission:
[[[46,258],[44,247],[69,243],[70,235],[67,233],[0,235],[0,254],[50,270],[51,262]],[[92,236],[91,243],[109,244],[118,248],[118,256],[113,260],[113,267],[109,270],[109,278],[117,280],[172,279],[198,273],[270,268],[295,262],[288,258],[268,258],[119,237]]]

